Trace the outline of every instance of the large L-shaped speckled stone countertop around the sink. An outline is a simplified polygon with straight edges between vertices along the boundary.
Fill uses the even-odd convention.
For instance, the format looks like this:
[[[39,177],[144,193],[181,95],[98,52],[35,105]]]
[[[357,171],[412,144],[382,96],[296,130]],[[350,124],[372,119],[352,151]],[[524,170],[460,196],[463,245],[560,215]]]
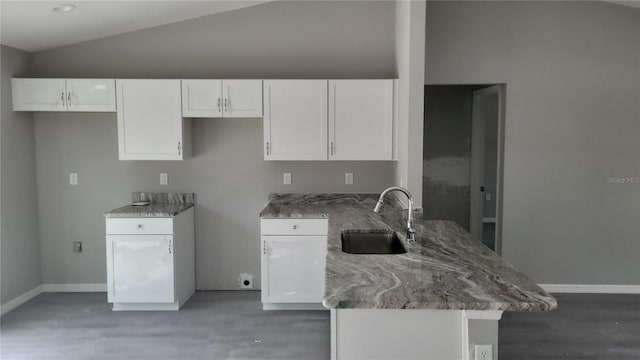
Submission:
[[[415,221],[406,241],[402,210],[377,194],[273,194],[262,218],[329,218],[323,304],[327,308],[547,311],[555,298],[452,221]],[[407,253],[347,254],[343,230],[396,230]]]

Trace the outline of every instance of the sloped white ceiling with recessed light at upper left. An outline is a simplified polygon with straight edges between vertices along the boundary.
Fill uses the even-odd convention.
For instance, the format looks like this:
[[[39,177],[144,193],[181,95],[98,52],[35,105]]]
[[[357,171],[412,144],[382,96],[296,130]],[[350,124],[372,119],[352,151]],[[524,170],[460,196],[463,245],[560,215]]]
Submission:
[[[150,28],[266,1],[7,1],[0,2],[1,42],[35,52]],[[51,11],[58,4],[73,4],[68,13]]]

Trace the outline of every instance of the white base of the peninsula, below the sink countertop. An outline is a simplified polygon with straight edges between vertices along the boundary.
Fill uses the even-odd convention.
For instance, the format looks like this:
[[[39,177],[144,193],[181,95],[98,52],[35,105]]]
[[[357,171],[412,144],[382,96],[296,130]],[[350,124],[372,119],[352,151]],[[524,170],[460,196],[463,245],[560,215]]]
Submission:
[[[331,359],[473,360],[474,345],[498,359],[502,311],[331,309]],[[375,331],[371,331],[375,329]]]

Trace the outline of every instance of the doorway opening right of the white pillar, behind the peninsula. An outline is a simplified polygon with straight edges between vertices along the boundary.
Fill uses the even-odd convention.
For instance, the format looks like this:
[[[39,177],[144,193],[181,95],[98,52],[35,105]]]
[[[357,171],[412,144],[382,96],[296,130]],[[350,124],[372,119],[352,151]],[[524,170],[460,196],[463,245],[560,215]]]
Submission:
[[[502,251],[504,84],[426,85],[424,218]]]

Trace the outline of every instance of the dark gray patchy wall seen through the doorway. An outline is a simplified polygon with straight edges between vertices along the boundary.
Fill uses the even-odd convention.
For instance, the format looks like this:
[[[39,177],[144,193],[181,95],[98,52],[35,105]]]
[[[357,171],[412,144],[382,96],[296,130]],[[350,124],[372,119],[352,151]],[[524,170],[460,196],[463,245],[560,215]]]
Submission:
[[[452,220],[469,229],[471,110],[476,86],[425,88],[425,219]]]

